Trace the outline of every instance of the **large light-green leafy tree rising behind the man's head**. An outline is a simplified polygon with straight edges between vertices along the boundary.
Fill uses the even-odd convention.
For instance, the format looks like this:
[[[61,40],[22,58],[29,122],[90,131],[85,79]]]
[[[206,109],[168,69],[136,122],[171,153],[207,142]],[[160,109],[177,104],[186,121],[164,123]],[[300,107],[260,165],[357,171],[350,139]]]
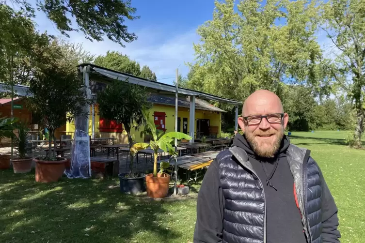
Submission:
[[[215,1],[213,19],[198,28],[190,88],[244,100],[259,88],[281,96],[284,82],[317,85],[314,2],[241,0],[237,9],[234,0]]]

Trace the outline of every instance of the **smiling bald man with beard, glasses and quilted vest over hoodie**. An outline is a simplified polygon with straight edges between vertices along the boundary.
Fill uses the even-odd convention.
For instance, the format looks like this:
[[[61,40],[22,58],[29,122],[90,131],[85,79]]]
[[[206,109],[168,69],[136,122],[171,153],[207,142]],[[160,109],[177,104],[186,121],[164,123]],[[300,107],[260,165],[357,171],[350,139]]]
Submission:
[[[250,95],[229,150],[199,190],[194,243],[338,243],[337,207],[310,151],[284,135],[288,114],[266,90]]]

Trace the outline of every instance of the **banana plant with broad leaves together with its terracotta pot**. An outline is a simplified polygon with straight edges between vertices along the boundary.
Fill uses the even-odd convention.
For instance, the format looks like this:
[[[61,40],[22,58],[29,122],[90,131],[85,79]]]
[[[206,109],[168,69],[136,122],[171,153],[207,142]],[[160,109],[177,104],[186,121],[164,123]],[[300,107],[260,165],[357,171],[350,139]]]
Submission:
[[[170,154],[176,155],[177,152],[175,152],[175,149],[172,145],[174,138],[190,140],[191,137],[180,132],[162,133],[156,129],[156,125],[154,121],[149,118],[147,111],[143,111],[143,114],[147,121],[145,130],[148,130],[151,133],[153,140],[151,140],[149,144],[141,144],[144,144],[144,147],[148,145],[149,147],[151,147],[151,149],[154,150],[153,173],[146,175],[147,196],[154,198],[166,197],[169,192],[170,175],[164,173],[163,169],[166,169],[166,167],[169,167],[170,165],[167,165],[166,163],[161,163],[161,170],[160,173],[158,173],[157,157],[159,149],[163,150],[164,152],[169,152]]]

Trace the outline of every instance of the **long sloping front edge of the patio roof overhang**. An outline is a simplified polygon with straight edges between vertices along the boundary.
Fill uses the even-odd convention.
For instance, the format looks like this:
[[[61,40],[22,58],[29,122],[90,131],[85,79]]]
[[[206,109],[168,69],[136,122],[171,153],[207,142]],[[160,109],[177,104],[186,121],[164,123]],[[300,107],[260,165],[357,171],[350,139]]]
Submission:
[[[89,78],[91,80],[97,79],[97,81],[106,82],[106,83],[111,83],[112,80],[121,80],[121,81],[127,81],[132,84],[140,85],[143,87],[147,87],[148,89],[150,89],[150,91],[155,91],[159,94],[164,94],[164,95],[170,94],[171,95],[172,93],[175,93],[176,88],[174,85],[164,84],[164,83],[148,80],[148,79],[141,78],[141,77],[128,75],[125,73],[113,71],[111,69],[100,67],[100,66],[90,64],[90,63],[82,63],[82,64],[78,65],[80,73],[83,72],[83,67],[85,67],[85,66],[90,66],[90,77]],[[242,102],[240,102],[240,101],[222,98],[222,97],[204,93],[201,91],[194,91],[194,90],[190,90],[190,89],[178,88],[177,92],[179,95],[196,96],[196,97],[199,97],[200,99],[212,100],[212,101],[217,101],[220,103],[226,103],[226,104],[230,104],[230,105],[241,105],[242,104]]]

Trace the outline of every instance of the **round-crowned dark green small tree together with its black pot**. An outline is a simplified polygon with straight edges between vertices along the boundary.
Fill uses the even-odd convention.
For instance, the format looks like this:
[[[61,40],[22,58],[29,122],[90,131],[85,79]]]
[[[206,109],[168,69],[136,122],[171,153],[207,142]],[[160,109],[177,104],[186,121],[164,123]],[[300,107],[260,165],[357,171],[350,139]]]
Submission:
[[[148,146],[141,143],[133,145],[130,131],[133,127],[138,131],[139,127],[145,124],[143,110],[148,110],[152,106],[147,97],[146,88],[123,81],[114,81],[97,94],[100,116],[118,124],[123,123],[127,132],[130,151],[129,172],[118,175],[122,193],[137,194],[143,191],[144,174],[134,172],[133,161],[136,153]]]

